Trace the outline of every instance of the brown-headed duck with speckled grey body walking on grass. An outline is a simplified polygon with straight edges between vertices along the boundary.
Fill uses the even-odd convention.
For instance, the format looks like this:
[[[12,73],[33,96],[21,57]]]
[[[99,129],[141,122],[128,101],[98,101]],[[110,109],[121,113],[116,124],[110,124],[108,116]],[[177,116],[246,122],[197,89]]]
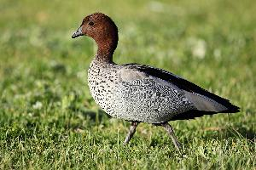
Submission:
[[[178,151],[181,144],[169,122],[216,113],[236,113],[240,108],[170,71],[136,63],[119,65],[113,53],[119,41],[118,27],[106,14],[90,14],[72,38],[87,36],[97,44],[88,69],[90,94],[103,111],[131,122],[123,144],[131,141],[141,122],[161,126]]]

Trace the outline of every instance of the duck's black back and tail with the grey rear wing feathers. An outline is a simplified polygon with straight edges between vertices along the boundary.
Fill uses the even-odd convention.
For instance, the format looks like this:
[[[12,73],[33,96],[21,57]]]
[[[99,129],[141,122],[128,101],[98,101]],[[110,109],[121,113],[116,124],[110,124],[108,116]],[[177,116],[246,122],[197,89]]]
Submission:
[[[195,105],[195,109],[178,114],[174,116],[172,120],[191,119],[198,116],[216,114],[218,112],[236,113],[240,109],[236,105],[232,105],[229,99],[224,99],[216,94],[212,94],[194,83],[172,74],[172,72],[154,68],[149,65],[128,64],[124,66],[141,71],[144,74],[159,79],[160,82],[164,82],[167,86],[171,85],[172,87],[174,86],[175,89],[183,91],[185,97]]]

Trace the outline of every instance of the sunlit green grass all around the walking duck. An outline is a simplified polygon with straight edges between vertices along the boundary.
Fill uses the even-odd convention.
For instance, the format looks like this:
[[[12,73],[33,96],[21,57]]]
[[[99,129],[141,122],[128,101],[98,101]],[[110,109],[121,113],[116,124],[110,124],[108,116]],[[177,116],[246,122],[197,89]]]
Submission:
[[[255,169],[256,5],[223,1],[0,1],[0,169]],[[172,71],[241,107],[236,114],[142,123],[103,113],[86,71],[96,52],[71,39],[96,11],[119,26],[117,63]]]

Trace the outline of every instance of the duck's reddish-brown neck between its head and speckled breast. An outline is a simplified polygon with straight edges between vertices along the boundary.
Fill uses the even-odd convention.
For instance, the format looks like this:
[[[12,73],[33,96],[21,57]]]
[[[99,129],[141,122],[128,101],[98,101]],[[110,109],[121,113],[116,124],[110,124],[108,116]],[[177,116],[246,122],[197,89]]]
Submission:
[[[101,38],[96,41],[98,45],[96,60],[101,62],[113,63],[113,52],[118,44],[118,38]]]

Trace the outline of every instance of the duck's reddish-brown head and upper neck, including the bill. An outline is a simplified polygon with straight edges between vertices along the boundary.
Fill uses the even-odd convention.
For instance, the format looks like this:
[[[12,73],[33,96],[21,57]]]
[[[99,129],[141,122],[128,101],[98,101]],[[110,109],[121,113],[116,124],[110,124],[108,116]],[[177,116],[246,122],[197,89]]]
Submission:
[[[79,36],[92,37],[98,45],[98,55],[112,55],[119,39],[117,26],[113,20],[102,13],[86,16],[72,37]]]

